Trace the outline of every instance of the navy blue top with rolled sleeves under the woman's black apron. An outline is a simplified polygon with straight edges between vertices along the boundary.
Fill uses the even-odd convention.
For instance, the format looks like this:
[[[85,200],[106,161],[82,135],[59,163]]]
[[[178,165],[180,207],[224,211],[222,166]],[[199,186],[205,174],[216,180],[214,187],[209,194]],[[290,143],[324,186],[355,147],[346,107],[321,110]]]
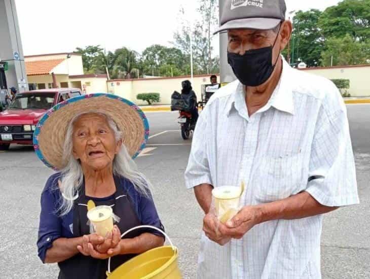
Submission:
[[[60,172],[52,175],[46,182],[45,188],[41,194],[41,214],[37,246],[39,257],[43,262],[45,262],[46,251],[52,247],[52,243],[55,239],[60,237],[73,237],[73,208],[67,215],[62,217],[56,212],[61,200],[61,192],[58,187],[58,180],[60,177]],[[133,210],[137,214],[141,224],[162,229],[163,226],[153,200],[138,193],[133,184],[127,179],[122,177],[119,181],[120,185],[116,185],[116,187],[123,187],[124,191],[127,192]],[[112,199],[112,196],[91,199],[95,201],[104,201]],[[157,234],[155,232],[153,233]]]

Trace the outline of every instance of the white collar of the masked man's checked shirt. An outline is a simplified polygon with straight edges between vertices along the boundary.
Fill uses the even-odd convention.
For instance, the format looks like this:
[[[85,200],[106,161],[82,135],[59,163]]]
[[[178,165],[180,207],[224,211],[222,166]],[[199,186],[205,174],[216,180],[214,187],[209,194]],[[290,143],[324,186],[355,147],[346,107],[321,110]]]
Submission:
[[[293,94],[292,94],[292,86],[291,86],[291,71],[292,68],[286,62],[285,58],[281,56],[283,59],[283,71],[281,73],[280,80],[271,95],[270,100],[267,102],[266,110],[269,107],[274,107],[275,109],[283,112],[287,112],[289,114],[294,114],[294,104],[293,104]],[[290,78],[289,78],[290,77]],[[262,108],[262,109],[264,109]],[[245,90],[244,86],[238,81],[238,85],[235,89],[235,92],[232,94],[230,103],[228,106],[228,113],[229,116],[232,109],[236,109],[239,113],[246,114],[247,109],[245,105]]]

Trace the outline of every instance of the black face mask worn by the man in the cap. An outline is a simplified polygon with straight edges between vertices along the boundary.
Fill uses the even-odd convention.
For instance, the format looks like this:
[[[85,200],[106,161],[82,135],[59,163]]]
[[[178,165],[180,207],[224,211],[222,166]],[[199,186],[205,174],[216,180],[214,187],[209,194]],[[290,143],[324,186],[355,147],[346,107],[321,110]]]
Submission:
[[[277,36],[279,36],[279,32]],[[278,56],[275,64],[272,64],[272,51],[277,36],[274,45],[271,47],[249,50],[244,55],[228,52],[228,62],[242,84],[252,87],[260,86],[271,77],[279,59]]]

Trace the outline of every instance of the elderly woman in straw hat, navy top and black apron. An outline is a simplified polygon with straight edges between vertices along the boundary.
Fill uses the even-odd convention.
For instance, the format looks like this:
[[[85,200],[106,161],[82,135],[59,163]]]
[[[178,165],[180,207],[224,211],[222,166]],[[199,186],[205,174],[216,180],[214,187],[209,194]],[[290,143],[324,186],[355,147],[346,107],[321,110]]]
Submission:
[[[115,269],[163,245],[163,236],[150,230],[121,239],[121,232],[139,225],[163,229],[150,184],[132,160],[148,134],[144,114],[109,94],[69,99],[40,120],[36,154],[59,172],[42,192],[38,250],[44,263],[58,263],[58,278],[106,278],[109,257]],[[91,233],[89,200],[111,206],[120,219],[105,237]]]

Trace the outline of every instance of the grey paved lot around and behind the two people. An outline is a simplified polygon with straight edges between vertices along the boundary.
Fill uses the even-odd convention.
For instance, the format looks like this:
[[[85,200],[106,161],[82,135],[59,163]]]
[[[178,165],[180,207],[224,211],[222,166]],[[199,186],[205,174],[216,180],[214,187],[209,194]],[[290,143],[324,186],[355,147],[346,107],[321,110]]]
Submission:
[[[342,208],[324,219],[323,278],[370,277],[370,105],[349,105],[361,204]],[[155,185],[154,198],[169,236],[180,250],[184,278],[194,278],[202,213],[183,172],[191,142],[182,140],[176,113],[147,113],[151,138],[140,169]],[[0,153],[2,204],[0,278],[56,278],[56,265],[43,265],[36,253],[40,194],[53,173],[31,147],[15,146]]]

